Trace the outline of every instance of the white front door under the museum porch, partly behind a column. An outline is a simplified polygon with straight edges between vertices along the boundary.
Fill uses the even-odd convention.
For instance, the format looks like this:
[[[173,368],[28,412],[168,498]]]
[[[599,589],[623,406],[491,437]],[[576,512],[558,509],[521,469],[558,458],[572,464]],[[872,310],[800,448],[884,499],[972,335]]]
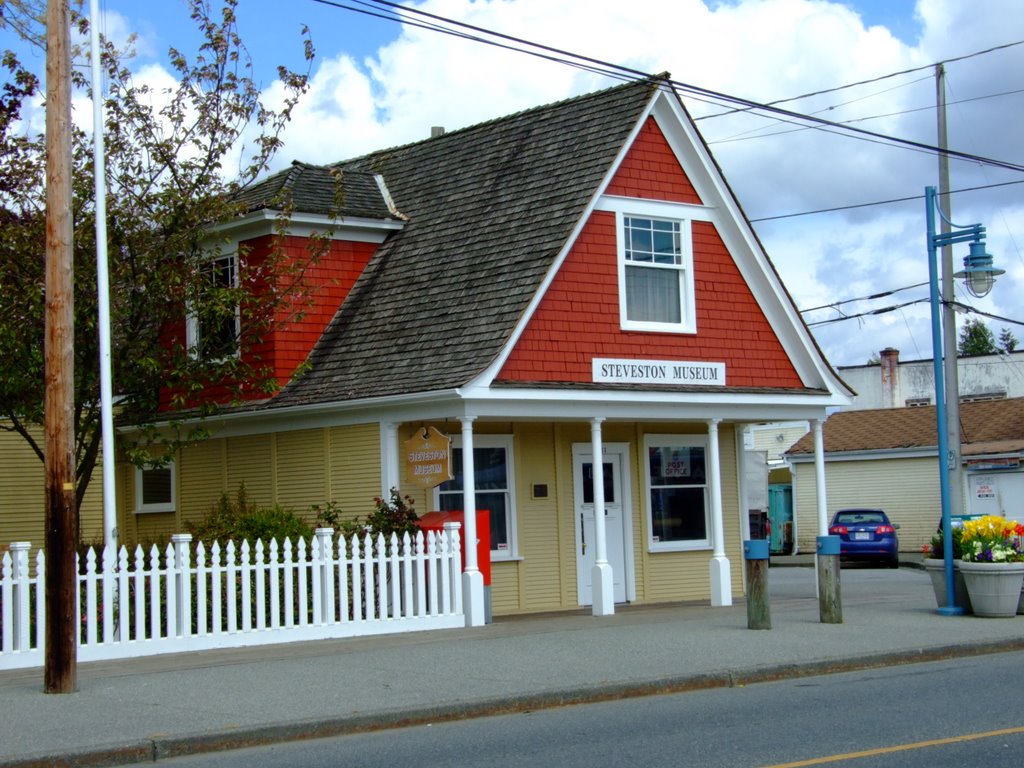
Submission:
[[[628,466],[628,446],[613,443],[604,446],[604,531],[608,564],[611,565],[614,599],[629,599],[632,558],[627,542],[631,540],[629,482],[623,474]],[[594,602],[591,570],[597,555],[594,532],[594,455],[589,443],[572,446],[573,521],[577,544],[577,590],[581,605]]]

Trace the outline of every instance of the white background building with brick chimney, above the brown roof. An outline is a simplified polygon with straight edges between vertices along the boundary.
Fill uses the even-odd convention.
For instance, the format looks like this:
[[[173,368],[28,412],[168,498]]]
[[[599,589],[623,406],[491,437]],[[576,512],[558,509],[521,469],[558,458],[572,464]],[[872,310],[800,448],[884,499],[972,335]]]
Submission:
[[[931,406],[935,374],[931,358],[901,360],[899,350],[883,349],[881,365],[841,366],[839,375],[857,393],[844,410]],[[1024,351],[958,357],[961,402],[1024,397]]]

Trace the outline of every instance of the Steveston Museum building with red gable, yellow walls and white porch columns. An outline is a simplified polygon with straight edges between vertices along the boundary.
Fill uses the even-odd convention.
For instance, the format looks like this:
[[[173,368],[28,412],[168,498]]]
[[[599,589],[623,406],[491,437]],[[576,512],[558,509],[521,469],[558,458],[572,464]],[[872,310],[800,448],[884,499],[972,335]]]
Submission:
[[[487,511],[489,553],[466,553],[470,624],[485,594],[496,614],[728,605],[749,536],[743,427],[820,435],[849,401],[665,78],[296,164],[247,203],[222,233],[249,258],[286,203],[289,247],[333,239],[307,273],[313,303],[258,349],[233,329],[276,394],[224,408],[168,468],[120,468],[124,541],[180,530],[242,482],[353,515],[394,487],[421,513]],[[222,253],[238,280],[246,261]],[[212,332],[191,318],[177,343]],[[424,487],[402,446],[431,427],[454,478]]]

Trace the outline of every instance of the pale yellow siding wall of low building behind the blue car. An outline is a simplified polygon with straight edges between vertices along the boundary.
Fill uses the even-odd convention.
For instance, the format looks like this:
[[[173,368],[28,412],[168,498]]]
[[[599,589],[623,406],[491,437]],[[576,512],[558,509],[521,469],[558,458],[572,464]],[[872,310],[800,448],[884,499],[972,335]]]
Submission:
[[[795,465],[793,485],[797,543],[801,552],[815,551],[818,490],[814,465]],[[825,463],[828,522],[838,509],[877,507],[899,523],[902,552],[920,552],[935,535],[941,515],[939,468],[934,457]],[[826,534],[827,531],[821,531]]]

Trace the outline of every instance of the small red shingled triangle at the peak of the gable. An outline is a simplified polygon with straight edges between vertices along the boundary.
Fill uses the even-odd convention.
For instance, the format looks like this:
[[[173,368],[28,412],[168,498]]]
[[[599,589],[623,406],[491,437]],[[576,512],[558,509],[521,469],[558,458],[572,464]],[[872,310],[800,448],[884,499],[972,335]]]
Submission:
[[[653,118],[643,124],[607,194],[700,205],[700,198]]]

